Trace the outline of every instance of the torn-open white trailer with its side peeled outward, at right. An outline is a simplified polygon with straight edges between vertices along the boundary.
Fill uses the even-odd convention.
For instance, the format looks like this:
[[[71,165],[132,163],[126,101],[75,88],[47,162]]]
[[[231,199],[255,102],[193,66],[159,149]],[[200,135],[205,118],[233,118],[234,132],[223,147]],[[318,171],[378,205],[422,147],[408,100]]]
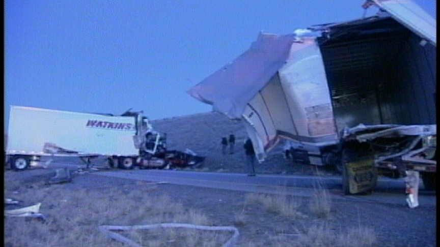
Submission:
[[[375,0],[376,15],[259,34],[187,92],[242,119],[256,156],[292,140],[297,161],[335,165],[345,194],[377,175],[436,172],[436,21],[408,0]]]

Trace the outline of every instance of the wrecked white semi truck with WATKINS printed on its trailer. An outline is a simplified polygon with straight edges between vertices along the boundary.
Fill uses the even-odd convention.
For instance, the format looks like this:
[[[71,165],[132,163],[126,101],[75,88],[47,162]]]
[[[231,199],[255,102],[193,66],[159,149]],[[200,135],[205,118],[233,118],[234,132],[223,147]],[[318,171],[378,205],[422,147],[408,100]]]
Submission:
[[[12,169],[47,167],[51,157],[78,157],[89,166],[102,156],[107,166],[121,169],[194,167],[204,160],[195,153],[168,150],[166,134],[153,130],[142,112],[112,115],[11,106],[6,161]],[[48,160],[42,162],[42,157]]]

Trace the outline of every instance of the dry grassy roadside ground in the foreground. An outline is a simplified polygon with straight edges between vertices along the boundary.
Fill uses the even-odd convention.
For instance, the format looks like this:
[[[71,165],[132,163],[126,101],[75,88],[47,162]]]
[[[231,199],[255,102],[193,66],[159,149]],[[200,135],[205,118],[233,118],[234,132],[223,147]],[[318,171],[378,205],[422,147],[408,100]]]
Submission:
[[[325,196],[328,194],[321,191],[324,189],[316,189],[321,200],[313,204],[305,198],[283,195],[282,191],[279,194],[222,191],[234,198],[227,198],[232,202],[225,201],[228,205],[223,215],[217,215],[218,205],[213,211],[211,203],[193,201],[209,196],[206,194],[212,196],[209,189],[198,189],[197,195],[185,194],[179,193],[177,186],[142,181],[72,189],[71,184],[48,185],[44,179],[14,180],[16,175],[17,172],[6,172],[5,196],[18,200],[22,206],[41,202],[40,212],[46,219],[6,218],[8,247],[129,246],[108,238],[98,227],[167,223],[236,227],[241,235],[231,246],[376,246],[376,233],[369,227],[360,225],[349,232],[328,227],[333,224],[329,217],[323,219],[322,212],[315,208],[331,209],[331,200]],[[87,181],[85,176],[81,179]],[[166,186],[167,190],[163,190]],[[179,195],[169,193],[170,190]],[[199,190],[205,190],[203,195]],[[140,246],[153,247],[223,246],[233,235],[228,231],[181,228],[116,232]]]

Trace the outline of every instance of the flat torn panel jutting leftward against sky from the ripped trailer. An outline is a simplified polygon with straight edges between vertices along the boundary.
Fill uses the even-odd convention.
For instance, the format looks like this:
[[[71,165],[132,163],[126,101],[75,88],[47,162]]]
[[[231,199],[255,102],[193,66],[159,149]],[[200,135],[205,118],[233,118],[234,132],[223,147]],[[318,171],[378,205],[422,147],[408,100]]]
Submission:
[[[187,93],[229,118],[241,118],[246,104],[286,63],[295,35],[259,34],[251,47]]]

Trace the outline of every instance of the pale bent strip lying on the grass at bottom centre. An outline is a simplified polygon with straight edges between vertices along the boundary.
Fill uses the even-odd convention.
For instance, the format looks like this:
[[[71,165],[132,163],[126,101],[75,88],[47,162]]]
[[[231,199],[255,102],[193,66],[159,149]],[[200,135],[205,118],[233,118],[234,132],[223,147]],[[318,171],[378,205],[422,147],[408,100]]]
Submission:
[[[153,225],[136,225],[136,226],[99,226],[99,230],[104,234],[107,234],[108,237],[116,239],[120,242],[128,244],[132,247],[142,247],[139,243],[134,242],[133,240],[126,238],[116,232],[112,232],[112,230],[119,231],[132,231],[132,230],[149,230],[155,228],[189,228],[189,229],[197,229],[197,230],[208,230],[208,231],[229,231],[233,232],[234,235],[222,245],[222,247],[234,247],[238,236],[240,235],[238,229],[230,226],[201,226],[201,225],[193,225],[193,224],[182,224],[182,223],[162,223],[162,224],[153,224]]]

